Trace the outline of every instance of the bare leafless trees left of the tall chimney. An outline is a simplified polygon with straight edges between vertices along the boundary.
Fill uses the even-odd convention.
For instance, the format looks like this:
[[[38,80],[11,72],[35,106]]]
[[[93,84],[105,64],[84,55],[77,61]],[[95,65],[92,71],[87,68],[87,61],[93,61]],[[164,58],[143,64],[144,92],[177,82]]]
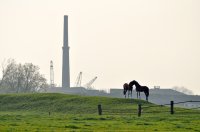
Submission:
[[[28,93],[46,91],[49,85],[46,78],[40,74],[39,67],[32,63],[17,64],[9,59],[2,64],[2,77],[0,79],[0,92]]]

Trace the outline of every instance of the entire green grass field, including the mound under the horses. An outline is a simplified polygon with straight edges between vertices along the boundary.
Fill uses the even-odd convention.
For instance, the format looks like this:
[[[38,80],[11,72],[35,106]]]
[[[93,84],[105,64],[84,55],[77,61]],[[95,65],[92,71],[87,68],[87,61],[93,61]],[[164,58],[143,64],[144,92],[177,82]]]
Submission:
[[[141,117],[138,103],[143,107]],[[175,108],[171,115],[169,107],[147,106],[156,105],[67,94],[2,94],[0,131],[200,131],[200,110]]]

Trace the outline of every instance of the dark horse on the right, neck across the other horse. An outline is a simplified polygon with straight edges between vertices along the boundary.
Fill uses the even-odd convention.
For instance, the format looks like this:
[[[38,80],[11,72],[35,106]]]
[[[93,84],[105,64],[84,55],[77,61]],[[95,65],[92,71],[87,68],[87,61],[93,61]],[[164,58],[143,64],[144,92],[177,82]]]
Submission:
[[[135,85],[136,87],[136,92],[137,92],[137,98],[139,95],[140,98],[140,92],[144,92],[146,95],[146,101],[148,101],[148,96],[149,96],[149,88],[147,86],[141,86],[137,81],[133,80],[129,83],[129,87],[133,87]]]

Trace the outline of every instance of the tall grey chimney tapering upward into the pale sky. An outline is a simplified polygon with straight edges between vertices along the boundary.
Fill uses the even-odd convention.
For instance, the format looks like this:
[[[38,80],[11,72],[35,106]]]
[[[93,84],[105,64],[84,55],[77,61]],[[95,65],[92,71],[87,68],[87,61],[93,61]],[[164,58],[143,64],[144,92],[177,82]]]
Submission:
[[[62,87],[70,88],[68,16],[67,15],[64,16]]]

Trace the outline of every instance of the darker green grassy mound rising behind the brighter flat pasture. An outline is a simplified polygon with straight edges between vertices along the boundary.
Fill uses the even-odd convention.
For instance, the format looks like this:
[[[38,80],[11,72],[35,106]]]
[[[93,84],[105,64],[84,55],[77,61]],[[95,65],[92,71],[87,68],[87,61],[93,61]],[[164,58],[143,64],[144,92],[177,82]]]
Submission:
[[[0,95],[0,111],[51,111],[71,114],[94,114],[97,113],[98,104],[102,104],[103,107],[125,109],[136,107],[138,101],[55,93],[5,94]],[[145,101],[140,102],[146,103]]]

